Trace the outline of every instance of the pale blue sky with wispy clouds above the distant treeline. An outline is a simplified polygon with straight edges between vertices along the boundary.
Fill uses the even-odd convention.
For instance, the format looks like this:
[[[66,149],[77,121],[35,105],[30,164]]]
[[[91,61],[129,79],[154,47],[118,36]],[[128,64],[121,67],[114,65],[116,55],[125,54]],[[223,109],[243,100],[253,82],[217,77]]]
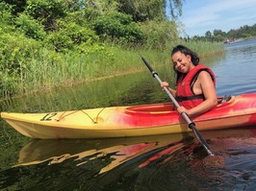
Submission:
[[[256,24],[255,0],[184,0],[178,21],[188,36],[205,36],[207,31],[229,32]]]

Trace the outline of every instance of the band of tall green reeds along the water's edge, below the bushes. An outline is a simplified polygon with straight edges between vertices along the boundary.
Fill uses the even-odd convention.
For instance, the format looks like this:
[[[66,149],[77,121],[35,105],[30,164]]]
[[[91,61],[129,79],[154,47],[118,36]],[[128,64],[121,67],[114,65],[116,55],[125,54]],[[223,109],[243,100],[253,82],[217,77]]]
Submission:
[[[168,65],[170,50],[178,43],[192,48],[200,57],[223,52],[222,45],[202,41],[172,42],[163,50],[105,46],[99,51],[81,54],[56,54],[42,48],[39,54],[32,54],[30,60],[19,60],[18,74],[13,73],[12,76],[2,70],[0,96],[5,98],[10,94],[19,95],[141,71],[146,69],[141,56],[149,60],[153,67]]]

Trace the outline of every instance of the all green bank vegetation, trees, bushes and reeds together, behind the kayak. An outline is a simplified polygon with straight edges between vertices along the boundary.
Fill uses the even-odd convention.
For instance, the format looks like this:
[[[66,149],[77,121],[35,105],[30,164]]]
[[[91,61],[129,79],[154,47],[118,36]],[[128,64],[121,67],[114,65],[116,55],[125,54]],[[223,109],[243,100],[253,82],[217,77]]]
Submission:
[[[202,56],[222,51],[179,37],[179,0],[4,0],[0,12],[1,99],[135,72],[140,54],[168,64],[178,43]]]

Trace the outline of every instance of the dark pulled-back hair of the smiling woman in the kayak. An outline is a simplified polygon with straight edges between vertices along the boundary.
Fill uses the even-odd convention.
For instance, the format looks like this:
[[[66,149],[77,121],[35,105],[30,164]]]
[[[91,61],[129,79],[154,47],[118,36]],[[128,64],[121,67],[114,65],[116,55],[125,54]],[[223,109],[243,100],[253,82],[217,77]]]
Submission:
[[[192,64],[193,65],[197,65],[199,63],[199,57],[196,53],[194,53],[191,49],[189,49],[186,46],[183,45],[177,45],[176,47],[174,47],[171,51],[171,57],[177,53],[177,52],[181,52],[182,54],[184,54],[185,56],[190,55],[192,57]],[[177,70],[175,70],[175,67],[173,66],[173,70],[175,71],[175,73],[177,74],[177,79],[176,79],[176,83],[179,80],[180,76],[182,75],[181,72],[178,72]]]

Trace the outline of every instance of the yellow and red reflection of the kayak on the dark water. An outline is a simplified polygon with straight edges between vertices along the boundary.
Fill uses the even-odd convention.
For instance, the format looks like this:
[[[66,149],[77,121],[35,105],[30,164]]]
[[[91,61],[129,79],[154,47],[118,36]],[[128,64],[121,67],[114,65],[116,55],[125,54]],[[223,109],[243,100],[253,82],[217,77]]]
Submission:
[[[214,138],[241,137],[254,133],[255,128],[248,127],[222,131],[204,131],[203,135],[218,155],[222,152],[222,147],[218,147],[218,144],[212,141]],[[67,159],[73,161],[76,166],[82,166],[96,159],[103,161],[104,158],[111,158],[106,163],[102,162],[104,165],[101,165],[97,173],[100,175],[141,155],[147,156],[139,165],[140,168],[163,155],[168,155],[167,158],[170,159],[174,152],[181,149],[192,154],[194,149],[198,150],[200,147],[199,144],[194,146],[194,141],[192,132],[108,139],[33,139],[20,150],[17,164],[14,166],[35,165],[43,162],[54,165],[67,161]],[[204,151],[200,151],[199,155],[204,157],[202,152]]]

